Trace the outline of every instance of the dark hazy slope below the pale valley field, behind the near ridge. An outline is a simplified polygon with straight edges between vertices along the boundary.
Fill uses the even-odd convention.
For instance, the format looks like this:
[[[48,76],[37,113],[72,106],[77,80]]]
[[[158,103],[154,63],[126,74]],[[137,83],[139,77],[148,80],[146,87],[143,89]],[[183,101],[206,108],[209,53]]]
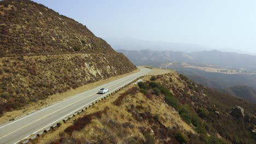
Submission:
[[[196,83],[256,103],[256,75],[208,73],[195,68],[173,67]]]

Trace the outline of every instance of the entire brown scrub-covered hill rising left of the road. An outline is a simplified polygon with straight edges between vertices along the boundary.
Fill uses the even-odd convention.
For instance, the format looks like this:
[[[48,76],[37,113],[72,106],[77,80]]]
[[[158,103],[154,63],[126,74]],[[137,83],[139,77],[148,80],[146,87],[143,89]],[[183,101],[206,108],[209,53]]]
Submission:
[[[0,1],[0,115],[137,68],[86,26],[32,1]]]

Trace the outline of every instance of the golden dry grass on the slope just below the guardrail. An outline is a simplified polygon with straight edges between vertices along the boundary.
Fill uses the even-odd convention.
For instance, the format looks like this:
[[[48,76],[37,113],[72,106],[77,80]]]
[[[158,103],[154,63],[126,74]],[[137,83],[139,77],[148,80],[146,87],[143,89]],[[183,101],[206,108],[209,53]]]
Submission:
[[[107,143],[142,143],[148,139],[147,131],[149,131],[150,135],[154,135],[157,143],[162,143],[171,140],[170,137],[167,138],[167,135],[171,134],[167,132],[168,128],[178,128],[195,133],[187,123],[182,121],[176,110],[164,103],[164,98],[154,96],[151,100],[136,89],[134,86],[124,88],[119,93],[76,116],[73,125],[79,122],[78,117],[92,118],[83,129],[79,127],[72,134],[63,133],[64,129],[68,131],[67,129],[74,128],[68,122],[67,124],[62,124],[61,129],[50,131],[43,138],[40,137],[36,143],[58,142],[59,140],[78,143],[85,141],[96,143],[101,143],[102,141]],[[118,103],[118,105],[114,105],[115,103]],[[137,117],[139,115],[143,116],[142,121]],[[156,119],[155,117],[158,118]],[[167,131],[159,131],[158,127]]]

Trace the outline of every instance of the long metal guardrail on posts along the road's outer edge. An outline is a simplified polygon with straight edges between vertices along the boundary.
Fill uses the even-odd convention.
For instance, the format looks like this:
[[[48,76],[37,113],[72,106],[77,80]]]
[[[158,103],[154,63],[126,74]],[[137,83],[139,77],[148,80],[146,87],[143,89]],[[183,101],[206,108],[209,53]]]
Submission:
[[[114,93],[117,93],[117,92],[121,91],[121,89],[124,89],[125,87],[132,85],[132,83],[137,82],[138,79],[142,79],[143,77],[146,77],[146,76],[153,76],[153,75],[144,75],[144,76],[140,76],[140,77],[138,77],[137,79],[135,79],[135,80],[133,80],[133,81],[131,81],[131,82],[129,82],[129,83],[126,83],[124,86],[122,86],[122,87],[120,87],[120,88],[118,88],[118,89],[115,89],[115,91],[113,91],[112,93],[109,93],[109,94],[105,95],[103,98],[99,98],[99,99],[93,101],[90,105],[84,106],[81,110],[79,110],[79,111],[77,111],[77,112],[74,112],[72,115],[67,116],[67,118],[65,118],[65,119],[62,120],[62,122],[63,122],[63,123],[66,123],[66,122],[67,122],[68,120],[70,120],[72,117],[78,115],[79,113],[83,112],[84,110],[87,110],[87,109],[88,109],[89,107],[91,107],[92,105],[94,105],[94,104],[100,102],[100,101],[103,100],[103,99],[106,99],[107,97],[110,97],[110,96],[113,95]],[[24,142],[22,142],[22,144],[26,144],[28,141],[33,140],[33,139],[36,139],[36,138],[39,137],[40,135],[42,135],[42,134],[44,134],[44,133],[47,133],[47,131],[53,130],[53,129],[54,129],[55,127],[57,127],[57,126],[60,126],[60,122],[59,122],[59,123],[56,123],[56,124],[54,124],[54,125],[52,125],[50,128],[47,128],[47,129],[41,131],[40,133],[34,135],[33,137],[31,137],[31,138],[25,140]],[[21,140],[21,141],[22,141],[22,140]]]

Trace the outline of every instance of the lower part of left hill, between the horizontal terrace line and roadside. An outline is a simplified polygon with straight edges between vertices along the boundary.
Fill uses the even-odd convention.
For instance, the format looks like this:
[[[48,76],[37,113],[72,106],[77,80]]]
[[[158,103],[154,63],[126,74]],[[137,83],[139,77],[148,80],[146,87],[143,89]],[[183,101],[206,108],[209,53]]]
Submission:
[[[135,69],[120,53],[2,57],[0,115],[46,99],[49,95],[126,74]]]

